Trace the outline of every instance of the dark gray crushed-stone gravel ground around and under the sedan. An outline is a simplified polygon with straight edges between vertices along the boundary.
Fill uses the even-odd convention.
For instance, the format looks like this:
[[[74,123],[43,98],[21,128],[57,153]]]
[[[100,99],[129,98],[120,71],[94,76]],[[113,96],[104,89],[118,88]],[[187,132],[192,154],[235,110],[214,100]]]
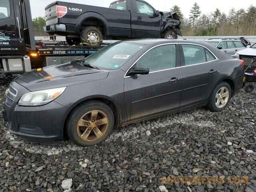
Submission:
[[[11,78],[0,75],[0,108]],[[256,91],[228,109],[204,108],[114,130],[97,146],[36,144],[8,132],[0,113],[0,192],[255,192]],[[162,184],[166,176],[224,176],[224,184]],[[230,184],[228,176],[248,176]]]

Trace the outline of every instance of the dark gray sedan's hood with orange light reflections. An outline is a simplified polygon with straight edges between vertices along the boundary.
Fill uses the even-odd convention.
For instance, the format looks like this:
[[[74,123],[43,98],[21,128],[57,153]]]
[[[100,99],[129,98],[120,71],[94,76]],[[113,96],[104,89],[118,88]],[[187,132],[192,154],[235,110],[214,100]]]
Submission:
[[[74,61],[33,70],[19,76],[15,81],[30,91],[37,91],[102,80],[108,74],[107,70],[87,68]]]

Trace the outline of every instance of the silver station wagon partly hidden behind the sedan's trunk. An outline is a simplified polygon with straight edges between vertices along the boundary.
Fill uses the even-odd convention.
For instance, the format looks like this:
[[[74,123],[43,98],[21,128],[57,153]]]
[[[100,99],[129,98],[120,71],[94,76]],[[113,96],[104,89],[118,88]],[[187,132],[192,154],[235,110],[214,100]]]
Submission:
[[[239,39],[209,39],[204,42],[229,55],[234,55],[236,52],[246,48],[246,44]]]

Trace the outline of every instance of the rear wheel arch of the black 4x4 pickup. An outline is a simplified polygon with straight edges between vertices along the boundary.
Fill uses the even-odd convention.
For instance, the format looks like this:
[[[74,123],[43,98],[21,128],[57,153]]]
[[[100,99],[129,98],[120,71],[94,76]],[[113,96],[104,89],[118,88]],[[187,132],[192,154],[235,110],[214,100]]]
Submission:
[[[104,16],[102,16],[98,13],[95,13],[95,12],[86,12],[79,16],[79,18],[76,22],[76,28],[75,28],[76,33],[80,33],[81,28],[82,28],[84,22],[86,22],[86,20],[89,20],[93,24],[93,25],[89,25],[89,26],[98,26],[96,21],[100,22],[100,24],[103,25],[104,34],[105,35],[109,34],[109,27],[108,27],[107,20],[104,18]]]

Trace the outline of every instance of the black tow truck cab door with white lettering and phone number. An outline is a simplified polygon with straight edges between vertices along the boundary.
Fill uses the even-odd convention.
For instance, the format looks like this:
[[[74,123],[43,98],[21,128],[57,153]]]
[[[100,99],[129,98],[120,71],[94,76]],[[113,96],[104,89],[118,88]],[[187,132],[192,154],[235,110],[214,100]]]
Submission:
[[[13,0],[0,0],[0,55],[13,55],[19,50]]]

